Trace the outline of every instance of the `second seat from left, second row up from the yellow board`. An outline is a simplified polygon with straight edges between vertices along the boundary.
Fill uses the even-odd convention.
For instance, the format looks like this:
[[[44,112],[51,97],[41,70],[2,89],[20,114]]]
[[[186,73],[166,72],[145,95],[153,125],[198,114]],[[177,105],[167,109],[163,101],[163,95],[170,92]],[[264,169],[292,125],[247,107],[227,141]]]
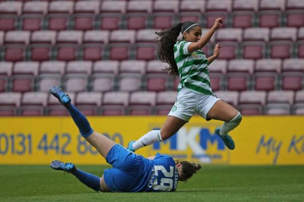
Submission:
[[[33,91],[34,77],[38,71],[38,62],[16,62],[12,76],[12,91],[22,93]]]

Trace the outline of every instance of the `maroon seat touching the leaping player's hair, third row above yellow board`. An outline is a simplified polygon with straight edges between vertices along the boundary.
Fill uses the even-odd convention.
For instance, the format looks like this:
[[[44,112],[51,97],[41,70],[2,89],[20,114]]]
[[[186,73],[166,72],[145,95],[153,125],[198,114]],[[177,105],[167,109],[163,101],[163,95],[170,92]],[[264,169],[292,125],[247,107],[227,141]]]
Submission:
[[[136,33],[136,60],[155,60],[158,50],[156,29],[141,29]]]

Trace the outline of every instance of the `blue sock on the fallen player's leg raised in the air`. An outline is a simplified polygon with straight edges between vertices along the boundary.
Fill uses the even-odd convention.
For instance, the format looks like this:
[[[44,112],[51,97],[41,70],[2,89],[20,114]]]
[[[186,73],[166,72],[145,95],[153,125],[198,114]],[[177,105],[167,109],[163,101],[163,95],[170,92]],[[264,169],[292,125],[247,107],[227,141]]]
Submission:
[[[89,137],[93,133],[93,129],[91,128],[90,123],[86,118],[86,116],[71,103],[68,106],[66,106],[66,109],[71,114],[75,124],[77,125],[80,131],[80,134],[84,138]]]

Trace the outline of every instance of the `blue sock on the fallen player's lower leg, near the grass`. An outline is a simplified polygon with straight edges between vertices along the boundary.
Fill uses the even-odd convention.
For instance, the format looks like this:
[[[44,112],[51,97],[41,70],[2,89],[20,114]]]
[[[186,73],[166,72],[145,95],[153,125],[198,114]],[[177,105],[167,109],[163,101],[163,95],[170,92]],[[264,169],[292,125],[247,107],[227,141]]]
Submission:
[[[84,172],[82,170],[77,169],[77,171],[71,172],[79,181],[90,187],[91,189],[94,189],[95,191],[100,190],[100,178],[96,175]]]

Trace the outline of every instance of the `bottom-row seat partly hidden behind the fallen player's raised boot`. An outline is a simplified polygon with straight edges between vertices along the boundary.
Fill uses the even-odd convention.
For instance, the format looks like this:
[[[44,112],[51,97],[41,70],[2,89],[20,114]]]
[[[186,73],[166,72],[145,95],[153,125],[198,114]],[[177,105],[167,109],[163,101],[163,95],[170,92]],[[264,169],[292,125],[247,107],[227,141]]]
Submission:
[[[74,103],[75,100],[75,93],[72,92],[65,92],[69,95],[71,99],[71,103]],[[52,116],[66,116],[69,115],[69,112],[66,110],[66,108],[61,105],[57,98],[55,98],[52,95],[49,95],[48,98],[48,106],[46,107],[46,114],[52,115]]]

